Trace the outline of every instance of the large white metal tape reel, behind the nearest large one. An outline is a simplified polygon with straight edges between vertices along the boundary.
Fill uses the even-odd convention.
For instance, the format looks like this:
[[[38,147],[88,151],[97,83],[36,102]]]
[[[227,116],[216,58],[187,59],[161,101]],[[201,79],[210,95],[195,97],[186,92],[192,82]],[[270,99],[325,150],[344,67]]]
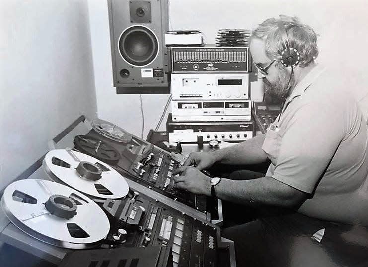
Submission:
[[[115,169],[77,151],[52,150],[46,154],[43,166],[53,181],[83,192],[94,201],[119,199],[129,191],[127,181]]]

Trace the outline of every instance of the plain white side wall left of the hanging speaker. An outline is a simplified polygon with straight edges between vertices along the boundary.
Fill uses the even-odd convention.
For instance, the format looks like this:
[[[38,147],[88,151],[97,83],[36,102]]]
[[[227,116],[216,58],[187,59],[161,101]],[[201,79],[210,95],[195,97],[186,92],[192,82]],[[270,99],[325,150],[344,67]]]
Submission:
[[[0,189],[96,116],[87,0],[0,1]]]

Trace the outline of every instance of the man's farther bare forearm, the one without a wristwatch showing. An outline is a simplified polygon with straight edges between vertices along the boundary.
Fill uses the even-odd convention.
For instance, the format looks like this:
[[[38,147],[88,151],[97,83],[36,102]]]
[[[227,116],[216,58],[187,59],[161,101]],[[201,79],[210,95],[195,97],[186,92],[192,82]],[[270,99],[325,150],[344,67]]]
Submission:
[[[267,160],[267,155],[262,150],[264,140],[265,134],[261,134],[245,142],[212,153],[216,153],[216,162],[219,163],[233,165],[262,163]]]

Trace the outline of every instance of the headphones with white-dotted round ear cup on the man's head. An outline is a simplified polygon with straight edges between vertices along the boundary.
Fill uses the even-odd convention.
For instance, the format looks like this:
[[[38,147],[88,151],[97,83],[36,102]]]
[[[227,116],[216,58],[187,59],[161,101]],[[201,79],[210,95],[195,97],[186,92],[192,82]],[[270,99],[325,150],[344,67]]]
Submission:
[[[281,39],[284,44],[284,50],[281,52],[281,60],[280,62],[285,67],[291,67],[292,72],[293,68],[296,67],[300,62],[300,53],[294,47],[290,47],[288,35],[286,33],[286,29],[281,20],[278,22],[278,27],[281,31]]]

